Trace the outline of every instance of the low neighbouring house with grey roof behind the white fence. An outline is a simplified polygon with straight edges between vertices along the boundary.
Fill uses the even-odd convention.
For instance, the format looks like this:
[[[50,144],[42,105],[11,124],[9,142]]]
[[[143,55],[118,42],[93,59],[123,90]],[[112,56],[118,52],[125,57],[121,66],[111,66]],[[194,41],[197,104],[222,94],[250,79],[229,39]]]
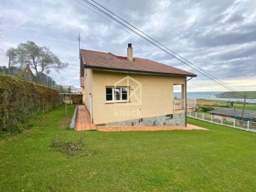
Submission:
[[[235,107],[230,108],[221,108],[218,110],[209,111],[210,114],[218,115],[224,118],[232,117],[234,119],[244,119],[250,120],[256,118],[256,111],[245,110],[242,118],[242,110],[237,110]]]

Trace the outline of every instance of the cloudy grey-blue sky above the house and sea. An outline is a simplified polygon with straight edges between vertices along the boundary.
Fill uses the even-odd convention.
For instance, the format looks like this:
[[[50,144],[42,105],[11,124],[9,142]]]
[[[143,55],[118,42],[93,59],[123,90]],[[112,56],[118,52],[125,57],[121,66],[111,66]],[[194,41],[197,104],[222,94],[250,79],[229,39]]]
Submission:
[[[69,63],[59,74],[50,73],[57,82],[80,87],[80,33],[80,48],[126,55],[132,43],[134,57],[196,73],[189,92],[228,91],[77,1],[0,0],[0,65],[8,63],[8,48],[33,41]],[[233,89],[256,90],[255,0],[95,1]]]

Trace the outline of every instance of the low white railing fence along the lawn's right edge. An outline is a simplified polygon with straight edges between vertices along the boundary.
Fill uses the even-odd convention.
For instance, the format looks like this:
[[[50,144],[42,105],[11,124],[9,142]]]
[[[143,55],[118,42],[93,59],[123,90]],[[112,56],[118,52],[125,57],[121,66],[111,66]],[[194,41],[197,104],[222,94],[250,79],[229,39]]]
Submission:
[[[206,114],[201,112],[187,112],[187,117],[200,119],[204,122],[221,124],[235,129],[242,129],[247,132],[256,132],[256,122],[234,119],[231,117],[221,117],[219,115]]]

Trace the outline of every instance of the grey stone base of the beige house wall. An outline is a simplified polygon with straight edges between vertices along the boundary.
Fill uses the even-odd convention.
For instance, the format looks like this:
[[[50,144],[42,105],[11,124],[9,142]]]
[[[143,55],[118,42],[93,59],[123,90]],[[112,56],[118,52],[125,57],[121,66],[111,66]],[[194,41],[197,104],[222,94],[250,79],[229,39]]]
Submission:
[[[97,124],[98,126],[185,126],[185,112],[166,114],[155,117],[145,117],[122,122]]]

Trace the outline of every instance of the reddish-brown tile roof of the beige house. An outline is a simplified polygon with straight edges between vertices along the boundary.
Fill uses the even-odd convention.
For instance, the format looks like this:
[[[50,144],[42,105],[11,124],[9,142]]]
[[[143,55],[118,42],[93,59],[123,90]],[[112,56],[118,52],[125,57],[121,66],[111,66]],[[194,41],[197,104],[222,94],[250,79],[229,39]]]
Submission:
[[[126,57],[95,50],[80,50],[84,68],[119,70],[134,73],[154,73],[161,75],[178,75],[196,77],[195,74],[173,68],[169,65],[157,63],[153,60],[134,58],[131,62]]]

